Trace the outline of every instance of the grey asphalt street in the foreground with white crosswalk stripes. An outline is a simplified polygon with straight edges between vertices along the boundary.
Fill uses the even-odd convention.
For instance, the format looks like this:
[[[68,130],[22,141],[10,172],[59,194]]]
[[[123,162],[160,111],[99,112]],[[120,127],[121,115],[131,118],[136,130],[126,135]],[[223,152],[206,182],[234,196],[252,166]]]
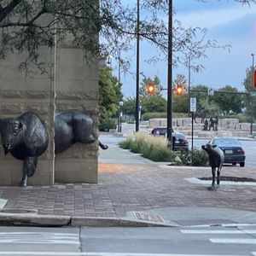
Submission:
[[[0,255],[255,256],[256,226],[0,227]]]

